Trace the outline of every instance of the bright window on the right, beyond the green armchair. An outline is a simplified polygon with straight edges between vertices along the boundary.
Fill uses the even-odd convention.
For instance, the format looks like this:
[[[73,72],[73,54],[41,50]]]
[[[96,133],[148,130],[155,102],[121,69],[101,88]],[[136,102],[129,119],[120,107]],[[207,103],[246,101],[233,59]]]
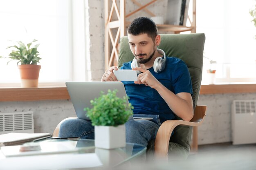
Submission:
[[[197,0],[197,33],[205,33],[205,57],[216,61],[216,82],[256,82],[256,27],[249,9],[254,0]]]

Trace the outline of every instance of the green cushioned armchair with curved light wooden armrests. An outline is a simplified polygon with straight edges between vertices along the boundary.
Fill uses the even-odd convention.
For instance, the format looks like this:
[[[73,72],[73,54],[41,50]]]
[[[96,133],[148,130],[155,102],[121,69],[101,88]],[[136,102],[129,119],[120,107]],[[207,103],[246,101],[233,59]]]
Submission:
[[[176,120],[165,121],[160,126],[156,139],[148,143],[148,155],[155,153],[166,158],[174,156],[175,159],[186,159],[189,155],[192,126],[202,124],[206,111],[206,106],[197,106],[202,79],[204,42],[204,33],[161,35],[161,43],[158,48],[164,50],[166,56],[182,59],[189,68],[193,86],[194,117],[191,121],[183,121],[179,117],[176,117]],[[125,36],[120,40],[118,66],[131,61],[133,57],[128,38]],[[63,121],[58,124],[53,136],[58,136],[59,127]],[[171,136],[173,130],[175,133]]]

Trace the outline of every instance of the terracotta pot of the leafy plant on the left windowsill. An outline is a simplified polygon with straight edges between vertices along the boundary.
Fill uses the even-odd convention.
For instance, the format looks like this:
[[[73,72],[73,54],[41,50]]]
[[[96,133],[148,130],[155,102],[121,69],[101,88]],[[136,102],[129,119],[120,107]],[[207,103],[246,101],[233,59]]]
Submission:
[[[20,70],[21,87],[38,87],[38,77],[41,66],[22,64],[18,66]]]

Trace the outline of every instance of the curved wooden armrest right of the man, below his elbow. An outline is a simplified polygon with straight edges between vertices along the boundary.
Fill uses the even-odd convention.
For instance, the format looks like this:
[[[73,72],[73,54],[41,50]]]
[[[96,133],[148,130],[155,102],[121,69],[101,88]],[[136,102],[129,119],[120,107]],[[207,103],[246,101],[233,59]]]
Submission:
[[[155,138],[155,154],[159,156],[168,155],[168,146],[171,134],[178,125],[200,126],[204,121],[207,106],[196,106],[194,116],[191,121],[184,120],[167,120],[158,129]]]

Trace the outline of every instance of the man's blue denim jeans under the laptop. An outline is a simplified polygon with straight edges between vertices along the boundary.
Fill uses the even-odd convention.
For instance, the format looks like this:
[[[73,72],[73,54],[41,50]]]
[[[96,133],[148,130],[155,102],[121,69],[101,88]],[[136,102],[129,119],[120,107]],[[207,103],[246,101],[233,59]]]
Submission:
[[[126,126],[126,142],[148,145],[148,141],[155,139],[161,125],[158,115],[136,115],[137,117],[153,117],[153,120],[129,120]],[[59,137],[80,137],[94,139],[94,126],[91,121],[84,119],[69,119],[61,124]]]

